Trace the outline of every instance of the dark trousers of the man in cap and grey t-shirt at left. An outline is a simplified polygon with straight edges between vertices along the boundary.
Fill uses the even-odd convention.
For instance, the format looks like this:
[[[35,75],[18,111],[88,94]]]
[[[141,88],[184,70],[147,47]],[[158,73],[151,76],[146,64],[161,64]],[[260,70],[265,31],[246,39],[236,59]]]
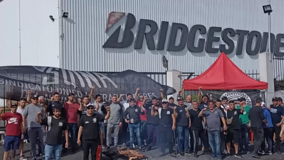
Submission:
[[[46,139],[46,134],[44,132],[45,128],[44,127],[33,127],[33,128],[28,128],[28,135],[31,143],[31,158],[36,157],[36,142],[37,140],[40,141],[41,145],[41,153],[45,152],[45,142],[44,140]]]

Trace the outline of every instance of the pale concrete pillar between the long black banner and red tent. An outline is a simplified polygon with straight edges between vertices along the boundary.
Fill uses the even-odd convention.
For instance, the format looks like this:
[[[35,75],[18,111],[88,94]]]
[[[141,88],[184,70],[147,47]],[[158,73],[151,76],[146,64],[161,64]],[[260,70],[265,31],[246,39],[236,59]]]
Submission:
[[[174,103],[177,102],[176,100],[177,100],[178,90],[182,88],[181,86],[182,79],[179,77],[179,75],[181,74],[182,72],[178,70],[167,71],[167,86],[173,87],[177,91],[173,95],[168,95],[167,98],[169,99],[169,97],[173,96],[173,98],[175,99]]]

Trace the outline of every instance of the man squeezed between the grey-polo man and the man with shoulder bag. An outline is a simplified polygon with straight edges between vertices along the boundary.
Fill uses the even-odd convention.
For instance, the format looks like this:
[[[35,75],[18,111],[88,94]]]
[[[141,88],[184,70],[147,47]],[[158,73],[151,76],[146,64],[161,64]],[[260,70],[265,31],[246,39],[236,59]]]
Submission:
[[[221,110],[224,116],[224,119],[227,120],[225,109],[221,108],[221,105],[222,105],[222,101],[218,99],[216,101],[216,107]],[[220,119],[220,124],[221,124],[221,127],[220,127],[221,149],[224,154],[227,154],[228,152],[227,152],[226,143],[225,143],[225,128],[224,128],[225,125],[223,124],[222,119]]]

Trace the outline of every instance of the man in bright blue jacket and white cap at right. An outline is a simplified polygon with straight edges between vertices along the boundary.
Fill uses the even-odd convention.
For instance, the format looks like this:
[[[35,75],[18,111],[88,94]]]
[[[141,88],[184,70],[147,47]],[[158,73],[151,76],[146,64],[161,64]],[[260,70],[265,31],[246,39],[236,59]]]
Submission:
[[[261,107],[263,108],[263,114],[264,117],[266,119],[266,122],[268,123],[268,126],[266,126],[266,124],[262,124],[263,126],[263,131],[264,131],[264,138],[266,139],[267,143],[268,143],[268,153],[264,152],[265,149],[265,140],[262,142],[261,144],[261,151],[258,151],[259,154],[269,154],[272,155],[272,149],[273,149],[273,124],[272,124],[272,120],[271,120],[271,115],[269,113],[269,110],[266,108],[265,103],[261,102]]]

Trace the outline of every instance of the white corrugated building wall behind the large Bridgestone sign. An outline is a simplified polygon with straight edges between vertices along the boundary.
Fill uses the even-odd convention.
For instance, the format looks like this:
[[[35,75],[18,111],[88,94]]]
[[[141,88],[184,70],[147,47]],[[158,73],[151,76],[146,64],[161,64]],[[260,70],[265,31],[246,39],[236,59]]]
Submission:
[[[20,65],[21,60],[21,65],[68,70],[165,72],[164,55],[168,70],[199,75],[225,51],[235,65],[257,78],[258,53],[268,50],[268,15],[262,7],[267,4],[267,0],[3,0],[0,54],[7,61],[1,65]],[[273,0],[271,6],[274,76],[283,79],[284,1]],[[63,12],[68,17],[62,17]]]

